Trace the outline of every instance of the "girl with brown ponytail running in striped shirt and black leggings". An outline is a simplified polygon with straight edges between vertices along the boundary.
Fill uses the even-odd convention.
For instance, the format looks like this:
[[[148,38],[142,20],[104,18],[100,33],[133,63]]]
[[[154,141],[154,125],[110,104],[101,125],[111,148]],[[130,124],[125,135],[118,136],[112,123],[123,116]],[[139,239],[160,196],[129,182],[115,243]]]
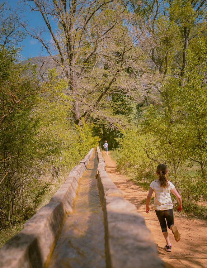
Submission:
[[[176,241],[179,241],[181,239],[181,236],[177,230],[177,227],[174,225],[170,191],[176,196],[179,202],[177,211],[182,211],[182,199],[180,194],[178,194],[177,190],[175,189],[175,186],[172,184],[172,182],[168,181],[168,179],[166,178],[167,173],[168,171],[166,165],[160,164],[157,166],[156,174],[158,175],[158,179],[154,180],[149,186],[150,188],[146,201],[146,213],[149,213],[149,202],[154,191],[155,213],[158,217],[162,229],[162,234],[165,237],[167,243],[167,245],[164,246],[164,249],[166,251],[171,251],[172,245],[170,243],[170,239],[167,233],[167,226],[174,234]]]

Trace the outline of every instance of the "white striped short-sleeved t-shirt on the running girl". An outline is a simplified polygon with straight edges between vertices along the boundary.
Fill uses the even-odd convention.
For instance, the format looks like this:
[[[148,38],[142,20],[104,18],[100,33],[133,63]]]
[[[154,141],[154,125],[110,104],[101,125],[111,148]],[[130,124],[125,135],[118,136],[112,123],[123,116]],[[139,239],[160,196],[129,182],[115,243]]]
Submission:
[[[169,186],[167,188],[161,187],[158,183],[158,179],[153,180],[149,187],[154,190],[154,209],[155,210],[167,210],[172,208],[172,199],[170,191],[175,188],[172,182],[168,181]]]

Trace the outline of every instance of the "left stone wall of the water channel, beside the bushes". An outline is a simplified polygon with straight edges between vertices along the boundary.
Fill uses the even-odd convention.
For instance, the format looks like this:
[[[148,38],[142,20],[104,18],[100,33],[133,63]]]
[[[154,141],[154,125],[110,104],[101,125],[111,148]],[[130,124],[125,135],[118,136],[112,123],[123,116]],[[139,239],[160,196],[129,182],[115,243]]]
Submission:
[[[29,219],[21,232],[0,249],[1,268],[45,267],[61,232],[66,213],[72,211],[78,180],[87,169],[93,149],[69,173],[50,202]]]

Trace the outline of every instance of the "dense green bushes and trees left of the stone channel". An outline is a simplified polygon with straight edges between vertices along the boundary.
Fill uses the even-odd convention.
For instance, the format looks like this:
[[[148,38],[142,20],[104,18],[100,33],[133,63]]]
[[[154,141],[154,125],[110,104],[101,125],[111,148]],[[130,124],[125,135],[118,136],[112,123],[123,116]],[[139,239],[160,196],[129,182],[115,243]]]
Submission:
[[[0,228],[12,228],[36,212],[50,186],[59,185],[99,138],[93,125],[74,126],[73,99],[55,69],[40,84],[35,67],[21,66],[10,51],[1,51],[0,62]],[[44,180],[44,174],[52,178]]]

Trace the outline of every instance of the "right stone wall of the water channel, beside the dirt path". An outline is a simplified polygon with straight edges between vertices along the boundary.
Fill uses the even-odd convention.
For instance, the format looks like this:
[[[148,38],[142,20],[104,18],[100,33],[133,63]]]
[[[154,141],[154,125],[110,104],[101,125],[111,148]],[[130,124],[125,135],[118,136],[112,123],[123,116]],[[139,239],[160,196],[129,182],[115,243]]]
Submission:
[[[97,180],[104,212],[106,266],[109,268],[165,267],[144,218],[124,199],[106,173],[106,164],[97,147]]]

